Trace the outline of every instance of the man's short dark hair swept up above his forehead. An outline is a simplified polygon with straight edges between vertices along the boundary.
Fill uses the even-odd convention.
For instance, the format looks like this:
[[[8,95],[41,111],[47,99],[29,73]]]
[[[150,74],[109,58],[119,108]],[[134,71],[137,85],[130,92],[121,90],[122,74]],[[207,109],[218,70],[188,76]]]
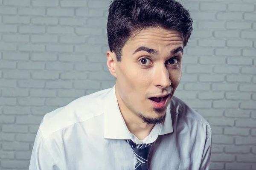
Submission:
[[[108,14],[108,45],[121,61],[122,48],[131,34],[160,26],[183,34],[185,47],[192,22],[189,11],[175,0],[113,0]]]

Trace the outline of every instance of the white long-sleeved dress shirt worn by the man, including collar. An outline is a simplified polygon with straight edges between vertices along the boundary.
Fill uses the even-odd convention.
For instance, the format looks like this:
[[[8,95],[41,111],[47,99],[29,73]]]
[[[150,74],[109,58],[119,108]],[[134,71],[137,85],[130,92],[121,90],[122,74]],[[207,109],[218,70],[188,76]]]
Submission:
[[[201,115],[173,96],[164,122],[140,141],[125,125],[114,88],[47,113],[29,170],[134,170],[136,159],[124,139],[154,142],[149,170],[208,170],[212,133]]]

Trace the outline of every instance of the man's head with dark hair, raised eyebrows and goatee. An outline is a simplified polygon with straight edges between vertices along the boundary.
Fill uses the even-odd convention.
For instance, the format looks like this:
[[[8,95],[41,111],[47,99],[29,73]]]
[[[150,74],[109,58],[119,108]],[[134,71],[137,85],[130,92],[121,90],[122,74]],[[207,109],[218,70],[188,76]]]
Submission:
[[[113,0],[107,29],[108,68],[121,112],[162,122],[181,78],[189,12],[175,0]]]

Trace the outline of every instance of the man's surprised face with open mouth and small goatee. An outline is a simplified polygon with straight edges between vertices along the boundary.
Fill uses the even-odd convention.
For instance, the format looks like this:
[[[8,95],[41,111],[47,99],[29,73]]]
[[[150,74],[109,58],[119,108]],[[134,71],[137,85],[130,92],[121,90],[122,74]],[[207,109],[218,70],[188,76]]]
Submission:
[[[183,36],[178,31],[147,28],[126,42],[115,61],[119,108],[148,124],[164,120],[181,79]]]

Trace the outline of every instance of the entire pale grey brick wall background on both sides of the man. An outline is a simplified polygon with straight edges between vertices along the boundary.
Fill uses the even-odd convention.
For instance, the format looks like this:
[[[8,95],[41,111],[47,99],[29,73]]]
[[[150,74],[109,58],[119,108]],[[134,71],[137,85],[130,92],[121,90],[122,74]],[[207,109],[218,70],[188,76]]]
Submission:
[[[44,114],[113,86],[109,2],[0,0],[0,170],[28,170]],[[211,170],[256,170],[256,0],[182,3],[194,31],[175,95],[212,127]]]

